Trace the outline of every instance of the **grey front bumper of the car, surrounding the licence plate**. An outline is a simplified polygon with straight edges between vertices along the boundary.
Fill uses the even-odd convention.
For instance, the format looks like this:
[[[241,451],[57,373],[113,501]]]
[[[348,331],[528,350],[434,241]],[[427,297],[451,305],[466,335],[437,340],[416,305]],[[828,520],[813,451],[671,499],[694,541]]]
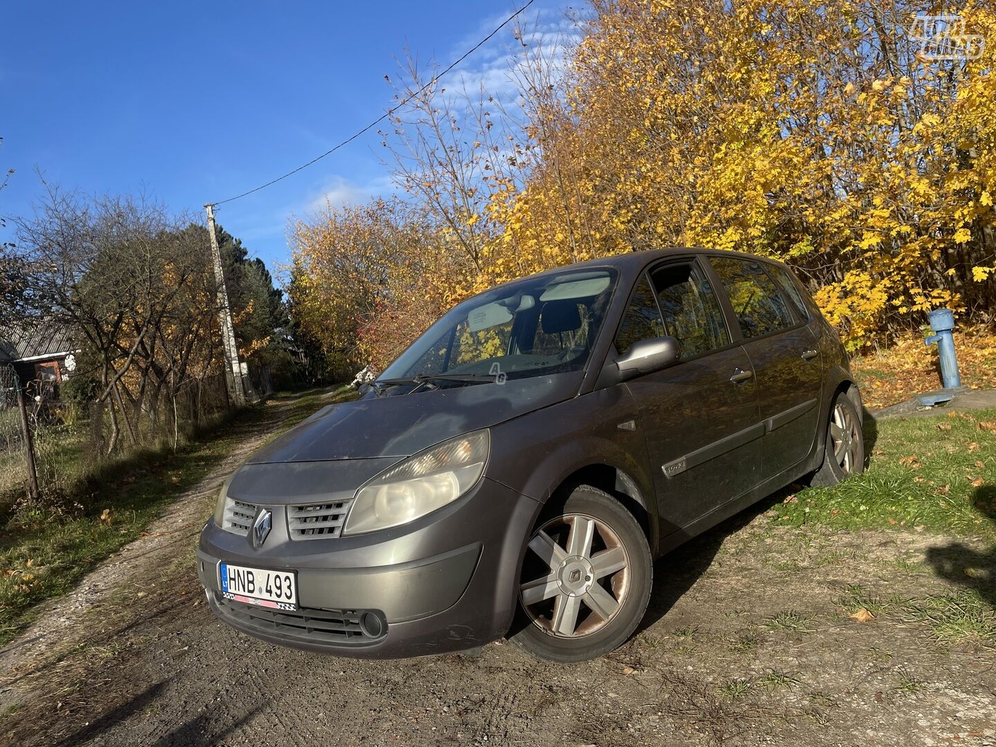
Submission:
[[[535,500],[485,478],[458,501],[401,527],[291,540],[283,501],[260,505],[273,512],[273,529],[261,548],[213,520],[201,533],[197,574],[211,610],[273,643],[368,658],[463,650],[504,635],[540,509]],[[221,562],[297,571],[299,610],[224,599]],[[365,620],[365,614],[373,617]],[[379,628],[367,624],[373,619]]]

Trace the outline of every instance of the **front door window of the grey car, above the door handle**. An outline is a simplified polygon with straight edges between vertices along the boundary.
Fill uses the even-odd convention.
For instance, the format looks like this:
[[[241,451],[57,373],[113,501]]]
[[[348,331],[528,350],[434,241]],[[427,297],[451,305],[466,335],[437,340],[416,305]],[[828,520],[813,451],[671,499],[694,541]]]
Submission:
[[[665,265],[654,270],[650,279],[664,318],[664,333],[678,341],[682,359],[729,344],[716,294],[694,265]]]

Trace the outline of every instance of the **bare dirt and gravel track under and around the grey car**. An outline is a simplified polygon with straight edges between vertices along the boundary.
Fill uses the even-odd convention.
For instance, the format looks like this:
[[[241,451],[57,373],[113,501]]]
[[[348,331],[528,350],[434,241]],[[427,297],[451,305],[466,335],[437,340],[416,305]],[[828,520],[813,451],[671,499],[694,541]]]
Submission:
[[[639,633],[589,663],[504,643],[478,658],[358,661],[241,635],[207,610],[193,544],[281,406],[150,537],[0,652],[0,741],[996,744],[996,650],[970,634],[991,610],[965,608],[961,583],[938,574],[996,578],[981,541],[789,529],[765,505],[659,562]],[[862,607],[869,622],[849,617]]]

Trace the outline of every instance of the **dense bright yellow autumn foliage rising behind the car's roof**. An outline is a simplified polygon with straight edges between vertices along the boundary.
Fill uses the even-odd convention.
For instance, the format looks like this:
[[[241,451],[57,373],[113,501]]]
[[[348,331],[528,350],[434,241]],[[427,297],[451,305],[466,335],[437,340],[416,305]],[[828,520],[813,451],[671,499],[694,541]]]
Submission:
[[[993,43],[930,59],[904,2],[596,2],[505,243],[784,259],[854,347],[992,308],[996,16],[941,10]]]

